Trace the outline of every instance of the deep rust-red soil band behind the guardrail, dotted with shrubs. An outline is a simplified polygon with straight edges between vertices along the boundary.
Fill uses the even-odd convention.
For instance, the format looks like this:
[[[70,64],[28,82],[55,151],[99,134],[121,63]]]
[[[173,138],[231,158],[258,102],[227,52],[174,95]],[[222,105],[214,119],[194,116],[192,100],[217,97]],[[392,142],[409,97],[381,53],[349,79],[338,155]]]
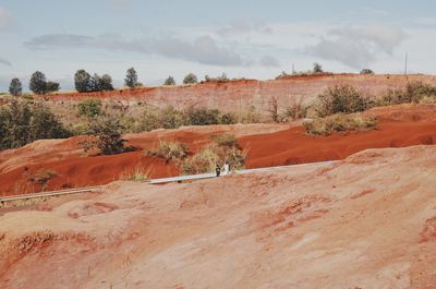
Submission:
[[[240,145],[247,149],[247,168],[281,166],[342,159],[366,148],[403,147],[436,143],[436,106],[399,106],[374,109],[367,115],[379,117],[379,129],[362,133],[334,134],[313,137],[301,127],[286,124],[213,125],[175,131],[155,131],[126,135],[129,144],[140,149],[156,146],[158,139],[178,140],[195,153],[210,142],[210,134],[235,133]],[[83,137],[39,141],[20,149],[0,153],[2,195],[38,191],[41,188],[27,181],[39,170],[53,170],[46,188],[105,184],[135,168],[149,170],[152,178],[178,174],[173,164],[145,156],[143,150],[113,156],[85,157],[78,146]]]

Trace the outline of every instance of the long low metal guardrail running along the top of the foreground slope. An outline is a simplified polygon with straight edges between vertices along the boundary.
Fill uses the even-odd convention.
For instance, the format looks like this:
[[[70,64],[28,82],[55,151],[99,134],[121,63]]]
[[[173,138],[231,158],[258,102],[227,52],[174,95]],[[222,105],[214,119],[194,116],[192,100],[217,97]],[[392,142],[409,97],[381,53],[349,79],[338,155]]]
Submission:
[[[311,162],[311,164],[301,164],[301,165],[290,165],[290,166],[280,166],[280,167],[269,167],[269,168],[258,168],[258,169],[244,169],[244,170],[235,170],[231,171],[230,174],[245,174],[253,172],[267,172],[290,168],[299,168],[299,167],[311,167],[311,166],[328,166],[337,162],[339,160],[329,160],[329,161],[320,161],[320,162]],[[225,177],[226,174],[221,174]],[[147,184],[164,184],[170,182],[182,182],[182,181],[192,181],[192,180],[203,180],[203,179],[213,179],[217,178],[215,173],[201,173],[201,174],[191,174],[191,176],[180,176],[180,177],[171,177],[171,178],[162,178],[162,179],[154,179],[146,181],[144,183]],[[88,193],[101,190],[102,185],[87,186],[87,188],[77,188],[71,190],[61,190],[61,191],[51,191],[51,192],[40,192],[35,194],[23,194],[15,196],[3,196],[0,197],[0,204],[4,204],[5,202],[13,201],[22,201],[22,200],[31,200],[36,197],[51,197],[58,195],[69,195],[69,194],[78,194],[78,193]]]

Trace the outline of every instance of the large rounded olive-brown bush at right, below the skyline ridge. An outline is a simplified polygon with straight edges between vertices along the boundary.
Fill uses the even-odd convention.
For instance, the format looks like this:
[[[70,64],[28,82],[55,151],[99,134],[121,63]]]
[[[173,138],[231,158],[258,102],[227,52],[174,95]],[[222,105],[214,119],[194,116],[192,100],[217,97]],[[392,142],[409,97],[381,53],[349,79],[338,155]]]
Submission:
[[[318,96],[316,112],[318,117],[326,117],[335,113],[353,113],[363,111],[370,107],[367,98],[349,84],[336,85],[324,91]]]

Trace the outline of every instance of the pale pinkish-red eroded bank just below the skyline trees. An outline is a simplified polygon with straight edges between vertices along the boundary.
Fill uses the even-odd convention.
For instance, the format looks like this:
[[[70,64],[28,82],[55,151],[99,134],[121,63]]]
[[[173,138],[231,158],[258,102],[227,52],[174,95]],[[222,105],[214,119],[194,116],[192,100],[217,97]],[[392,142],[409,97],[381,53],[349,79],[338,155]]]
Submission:
[[[147,103],[159,107],[197,106],[226,111],[243,111],[253,106],[258,111],[266,111],[270,107],[271,97],[277,98],[279,107],[289,107],[293,101],[311,103],[325,88],[336,84],[348,83],[368,95],[376,96],[389,88],[403,87],[408,81],[422,81],[436,85],[434,75],[332,74],[292,76],[271,81],[210,82],[192,86],[144,87],[106,93],[53,94],[44,98],[55,101],[82,101],[93,97],[120,101],[123,105]]]

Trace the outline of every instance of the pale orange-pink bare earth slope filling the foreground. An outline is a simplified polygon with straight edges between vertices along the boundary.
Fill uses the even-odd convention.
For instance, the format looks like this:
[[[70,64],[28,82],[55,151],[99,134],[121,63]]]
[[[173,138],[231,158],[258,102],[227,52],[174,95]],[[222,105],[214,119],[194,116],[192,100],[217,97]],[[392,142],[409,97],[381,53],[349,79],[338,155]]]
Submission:
[[[0,212],[0,288],[436,288],[436,146]]]

